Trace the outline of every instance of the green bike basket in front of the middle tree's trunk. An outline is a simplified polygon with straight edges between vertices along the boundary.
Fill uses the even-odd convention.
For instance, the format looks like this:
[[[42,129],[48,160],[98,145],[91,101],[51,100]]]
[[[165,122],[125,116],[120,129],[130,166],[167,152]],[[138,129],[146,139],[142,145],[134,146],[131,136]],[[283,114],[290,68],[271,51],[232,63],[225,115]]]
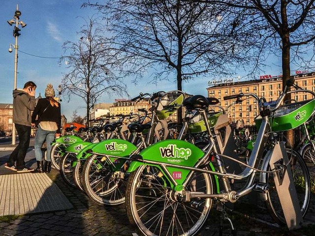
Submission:
[[[175,106],[169,108],[168,106],[174,105],[182,105],[184,101],[184,94],[177,90],[167,92],[161,97],[158,108],[157,108],[157,116],[159,119],[165,119],[171,116],[174,112],[176,112],[180,106]]]

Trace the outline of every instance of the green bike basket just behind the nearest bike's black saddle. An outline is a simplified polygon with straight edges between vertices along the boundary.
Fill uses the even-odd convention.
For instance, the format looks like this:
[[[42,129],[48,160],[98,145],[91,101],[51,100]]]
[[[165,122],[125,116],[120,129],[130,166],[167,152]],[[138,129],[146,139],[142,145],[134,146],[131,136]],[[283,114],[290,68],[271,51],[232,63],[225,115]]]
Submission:
[[[218,118],[223,114],[223,112],[218,112],[218,113],[211,113],[208,114],[208,121],[209,121],[209,125],[211,128],[213,128],[217,121]],[[189,132],[190,133],[201,133],[206,131],[206,125],[204,120],[202,119],[202,116],[200,114],[198,114],[197,116],[195,116],[194,118],[191,119],[191,122],[189,123]]]

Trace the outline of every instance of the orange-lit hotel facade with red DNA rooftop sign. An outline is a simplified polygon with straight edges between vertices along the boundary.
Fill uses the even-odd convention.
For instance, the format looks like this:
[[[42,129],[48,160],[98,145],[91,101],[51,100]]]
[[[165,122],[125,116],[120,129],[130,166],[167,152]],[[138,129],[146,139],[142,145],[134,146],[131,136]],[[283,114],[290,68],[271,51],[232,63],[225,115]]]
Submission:
[[[315,91],[315,72],[311,73],[296,73],[291,76],[295,79],[295,84],[303,89],[309,89]],[[221,83],[223,82],[223,83]],[[243,119],[245,125],[253,125],[254,118],[259,115],[257,101],[248,97],[241,104],[233,105],[231,100],[223,100],[224,96],[243,93],[253,93],[257,96],[263,96],[267,101],[276,100],[282,91],[282,77],[263,75],[260,76],[259,80],[251,81],[220,81],[215,83],[215,85],[207,88],[208,97],[216,97],[220,101],[221,107],[227,111],[231,122],[236,122],[238,119]],[[292,93],[291,99],[295,101],[304,101],[312,99],[313,96],[310,93]],[[219,111],[220,108],[214,108],[214,111]]]

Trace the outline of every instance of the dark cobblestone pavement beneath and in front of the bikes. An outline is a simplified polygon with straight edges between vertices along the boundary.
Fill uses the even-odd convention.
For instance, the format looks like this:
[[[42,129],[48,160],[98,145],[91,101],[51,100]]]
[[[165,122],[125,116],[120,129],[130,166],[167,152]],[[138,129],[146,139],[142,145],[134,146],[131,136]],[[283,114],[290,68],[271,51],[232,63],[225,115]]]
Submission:
[[[48,176],[58,185],[74,208],[40,214],[0,217],[1,236],[136,236],[135,230],[128,223],[124,205],[116,207],[96,205],[78,189],[69,187],[56,170],[53,170]],[[315,196],[312,196],[307,222],[315,223],[314,199]],[[246,214],[243,210],[238,208],[237,211],[243,213],[229,213],[234,227],[237,229],[237,236],[315,235],[315,225],[288,232],[285,228],[268,223],[271,222],[270,217],[261,208],[247,207]],[[200,236],[220,235],[220,214],[216,210],[213,212],[199,234]],[[253,220],[253,215],[260,220]],[[223,236],[230,235],[228,229],[224,229],[223,232]]]

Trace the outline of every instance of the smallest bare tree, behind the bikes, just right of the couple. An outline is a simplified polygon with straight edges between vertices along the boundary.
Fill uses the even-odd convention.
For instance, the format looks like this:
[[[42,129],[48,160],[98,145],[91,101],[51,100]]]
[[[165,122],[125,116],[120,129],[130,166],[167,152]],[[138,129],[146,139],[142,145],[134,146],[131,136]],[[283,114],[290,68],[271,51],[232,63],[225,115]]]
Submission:
[[[104,26],[99,20],[99,18],[85,20],[86,25],[77,33],[80,39],[77,42],[66,41],[63,44],[62,60],[70,70],[63,77],[63,94],[83,99],[86,105],[87,124],[90,109],[102,94],[126,93],[123,80],[111,69],[113,51],[110,39],[104,37]]]

